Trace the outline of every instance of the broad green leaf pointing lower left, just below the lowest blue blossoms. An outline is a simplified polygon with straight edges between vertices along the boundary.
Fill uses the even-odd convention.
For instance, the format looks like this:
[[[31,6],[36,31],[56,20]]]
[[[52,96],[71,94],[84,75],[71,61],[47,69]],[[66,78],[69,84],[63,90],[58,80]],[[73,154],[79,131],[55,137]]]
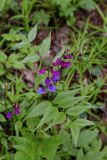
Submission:
[[[48,108],[50,108],[51,103],[49,101],[43,101],[38,105],[34,106],[33,109],[29,112],[26,119],[33,118],[43,115]]]

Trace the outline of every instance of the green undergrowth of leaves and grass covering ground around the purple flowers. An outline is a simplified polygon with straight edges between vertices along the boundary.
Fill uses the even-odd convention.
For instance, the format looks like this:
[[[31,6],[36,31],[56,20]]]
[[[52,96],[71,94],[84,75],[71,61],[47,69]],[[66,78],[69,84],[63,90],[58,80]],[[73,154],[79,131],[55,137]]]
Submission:
[[[87,5],[84,0],[22,0],[19,6],[17,1],[0,2],[0,160],[107,160],[101,139],[107,136],[107,18],[97,5],[103,1],[88,1]],[[68,6],[73,13],[67,12]],[[92,25],[89,17],[77,29],[74,13],[79,8],[96,9],[102,26]],[[10,10],[14,25],[6,23]],[[47,53],[53,29],[40,43],[37,35],[43,23],[50,28],[52,18],[51,27],[57,29],[56,15],[71,26],[70,44],[51,52],[51,57]],[[61,71],[56,92],[38,94],[48,74],[40,75],[39,70],[50,69],[66,50],[73,55],[72,65]],[[33,72],[31,87],[23,77],[26,70]],[[20,106],[18,115],[13,114],[15,104]],[[8,119],[10,111],[13,116]]]

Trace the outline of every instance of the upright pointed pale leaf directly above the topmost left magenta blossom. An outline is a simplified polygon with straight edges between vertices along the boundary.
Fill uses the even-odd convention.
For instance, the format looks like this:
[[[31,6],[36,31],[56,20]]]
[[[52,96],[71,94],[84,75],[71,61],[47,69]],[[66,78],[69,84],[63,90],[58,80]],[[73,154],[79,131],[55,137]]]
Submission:
[[[44,56],[47,54],[47,52],[50,49],[50,44],[51,44],[51,33],[48,35],[46,39],[42,41],[42,43],[39,46],[39,52],[41,56]]]

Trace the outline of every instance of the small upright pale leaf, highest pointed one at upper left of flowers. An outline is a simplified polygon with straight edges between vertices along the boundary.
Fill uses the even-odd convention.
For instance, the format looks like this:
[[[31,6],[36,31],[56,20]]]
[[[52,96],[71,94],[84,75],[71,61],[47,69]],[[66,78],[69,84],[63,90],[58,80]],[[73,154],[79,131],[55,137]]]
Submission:
[[[29,42],[32,42],[37,35],[37,24],[31,29],[31,31],[28,34],[28,40]]]

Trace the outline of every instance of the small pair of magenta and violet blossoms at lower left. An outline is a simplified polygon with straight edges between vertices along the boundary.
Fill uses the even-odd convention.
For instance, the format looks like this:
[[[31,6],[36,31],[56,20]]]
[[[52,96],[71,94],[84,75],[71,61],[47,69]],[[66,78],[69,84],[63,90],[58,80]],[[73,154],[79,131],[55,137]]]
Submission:
[[[20,114],[20,106],[18,104],[15,104],[13,106],[13,111],[9,111],[6,114],[7,119],[11,119],[13,115],[19,115]]]

